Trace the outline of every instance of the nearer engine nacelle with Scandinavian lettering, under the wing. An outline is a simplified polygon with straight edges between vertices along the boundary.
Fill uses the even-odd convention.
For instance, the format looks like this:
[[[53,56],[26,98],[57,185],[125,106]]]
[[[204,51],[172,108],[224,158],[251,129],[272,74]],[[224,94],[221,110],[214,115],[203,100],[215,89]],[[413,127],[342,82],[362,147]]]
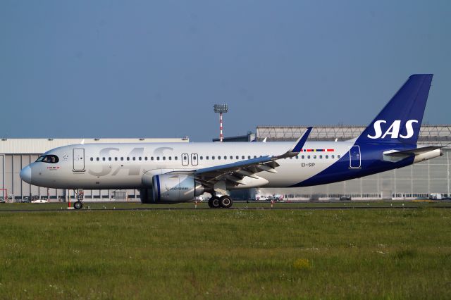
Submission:
[[[204,187],[189,175],[162,174],[152,177],[152,192],[154,203],[177,203],[204,194]]]

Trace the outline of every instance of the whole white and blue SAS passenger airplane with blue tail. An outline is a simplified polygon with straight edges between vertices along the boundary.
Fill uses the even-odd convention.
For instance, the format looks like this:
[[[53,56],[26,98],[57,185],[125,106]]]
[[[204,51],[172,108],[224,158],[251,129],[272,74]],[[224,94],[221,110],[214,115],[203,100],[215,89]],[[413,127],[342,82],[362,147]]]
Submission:
[[[309,142],[309,127],[294,144],[76,144],[47,151],[20,177],[57,189],[140,189],[145,204],[207,192],[211,208],[230,208],[232,189],[308,187],[402,168],[442,155],[440,146],[416,144],[432,77],[410,76],[362,135],[346,142]]]

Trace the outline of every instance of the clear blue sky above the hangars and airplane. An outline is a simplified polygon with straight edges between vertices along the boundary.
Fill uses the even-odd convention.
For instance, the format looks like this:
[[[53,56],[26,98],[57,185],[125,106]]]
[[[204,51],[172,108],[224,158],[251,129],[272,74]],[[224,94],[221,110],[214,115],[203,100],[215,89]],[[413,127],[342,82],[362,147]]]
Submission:
[[[365,125],[413,73],[450,122],[451,1],[0,1],[2,137]]]

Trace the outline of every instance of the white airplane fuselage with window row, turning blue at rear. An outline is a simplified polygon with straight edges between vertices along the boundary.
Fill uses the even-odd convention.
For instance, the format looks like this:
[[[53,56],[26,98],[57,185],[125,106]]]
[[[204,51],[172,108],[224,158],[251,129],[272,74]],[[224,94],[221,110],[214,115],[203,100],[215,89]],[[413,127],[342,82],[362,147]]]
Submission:
[[[292,142],[249,143],[149,143],[78,144],[48,151],[57,163],[36,162],[31,183],[63,189],[141,189],[145,175],[197,170],[245,161],[260,156],[282,154]],[[412,145],[410,145],[412,147]],[[349,180],[414,162],[385,161],[383,151],[404,150],[400,145],[356,145],[354,142],[307,142],[292,158],[278,160],[276,173],[261,171],[261,178],[230,185],[249,187],[303,187]],[[438,154],[440,155],[440,154]],[[438,156],[437,155],[437,156]]]

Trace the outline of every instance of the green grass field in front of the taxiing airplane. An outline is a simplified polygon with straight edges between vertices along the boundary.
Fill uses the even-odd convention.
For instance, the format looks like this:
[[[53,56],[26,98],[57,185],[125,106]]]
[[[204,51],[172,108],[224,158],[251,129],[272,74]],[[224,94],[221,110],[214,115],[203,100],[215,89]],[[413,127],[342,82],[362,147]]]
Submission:
[[[1,299],[451,299],[451,209],[431,204],[1,211],[11,205]]]

